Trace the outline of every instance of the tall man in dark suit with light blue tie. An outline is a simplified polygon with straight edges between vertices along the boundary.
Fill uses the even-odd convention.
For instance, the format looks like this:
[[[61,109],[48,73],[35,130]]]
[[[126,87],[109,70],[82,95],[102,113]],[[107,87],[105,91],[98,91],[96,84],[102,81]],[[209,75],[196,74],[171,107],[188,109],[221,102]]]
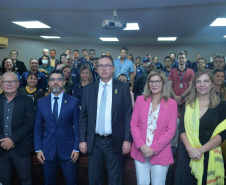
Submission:
[[[123,154],[131,150],[132,103],[129,85],[112,79],[114,62],[103,55],[98,62],[100,81],[83,90],[79,120],[79,148],[89,156],[89,184],[103,183],[106,162],[109,185],[123,182]]]

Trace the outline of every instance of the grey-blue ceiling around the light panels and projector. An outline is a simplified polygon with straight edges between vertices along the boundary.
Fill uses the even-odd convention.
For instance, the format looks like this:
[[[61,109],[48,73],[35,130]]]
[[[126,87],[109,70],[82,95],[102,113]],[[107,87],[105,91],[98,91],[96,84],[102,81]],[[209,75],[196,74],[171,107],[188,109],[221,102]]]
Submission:
[[[138,22],[139,31],[105,30],[104,19]],[[110,45],[170,45],[225,42],[226,27],[210,27],[226,17],[225,0],[0,0],[0,35],[60,42]],[[26,29],[12,21],[39,20],[51,29]],[[176,42],[158,42],[159,36],[176,36]],[[99,37],[118,37],[102,42]]]

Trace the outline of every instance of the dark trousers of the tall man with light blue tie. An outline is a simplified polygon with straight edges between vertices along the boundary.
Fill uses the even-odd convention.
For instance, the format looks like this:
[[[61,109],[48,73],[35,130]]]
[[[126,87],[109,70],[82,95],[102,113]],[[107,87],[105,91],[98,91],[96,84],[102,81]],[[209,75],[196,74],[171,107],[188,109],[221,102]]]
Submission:
[[[89,153],[89,185],[102,185],[104,162],[108,173],[108,185],[122,185],[124,160],[122,152],[114,152],[112,137],[95,135],[92,152]]]

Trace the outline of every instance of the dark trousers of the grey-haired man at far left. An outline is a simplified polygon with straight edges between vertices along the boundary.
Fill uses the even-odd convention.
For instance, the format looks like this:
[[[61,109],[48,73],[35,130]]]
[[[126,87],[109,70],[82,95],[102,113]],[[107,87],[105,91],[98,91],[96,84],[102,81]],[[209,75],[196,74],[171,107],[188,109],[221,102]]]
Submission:
[[[31,156],[20,157],[14,149],[0,156],[0,183],[11,185],[12,166],[15,166],[21,185],[31,185]]]

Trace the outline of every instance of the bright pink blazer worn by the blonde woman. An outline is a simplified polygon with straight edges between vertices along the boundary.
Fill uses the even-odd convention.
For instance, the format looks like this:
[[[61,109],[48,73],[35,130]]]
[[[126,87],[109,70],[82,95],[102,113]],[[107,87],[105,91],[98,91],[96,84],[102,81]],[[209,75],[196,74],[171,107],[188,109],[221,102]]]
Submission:
[[[144,96],[138,96],[133,108],[131,119],[131,133],[133,136],[133,144],[131,157],[137,161],[144,162],[141,146],[146,144],[148,113],[151,98],[147,101]],[[174,137],[177,125],[177,103],[169,98],[167,102],[161,100],[160,110],[157,120],[157,129],[155,130],[154,139],[151,148],[156,155],[150,158],[151,164],[169,165],[173,163],[173,155],[171,151],[171,139]]]

